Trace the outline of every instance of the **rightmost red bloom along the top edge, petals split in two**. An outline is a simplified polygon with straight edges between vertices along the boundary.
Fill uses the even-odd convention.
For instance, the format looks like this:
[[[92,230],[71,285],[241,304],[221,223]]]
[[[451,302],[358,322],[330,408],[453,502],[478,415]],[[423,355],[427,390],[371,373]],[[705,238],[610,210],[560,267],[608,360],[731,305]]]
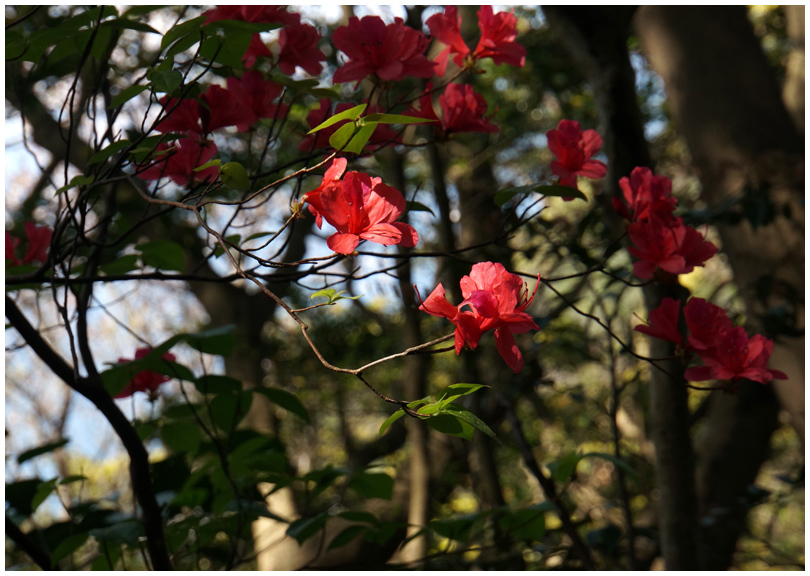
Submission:
[[[447,48],[434,60],[438,76],[444,76],[450,54],[455,54],[453,62],[457,66],[462,66],[468,56],[473,63],[481,58],[492,58],[495,64],[506,63],[517,67],[526,63],[526,49],[515,42],[517,17],[511,12],[493,14],[492,6],[481,7],[478,11],[481,39],[472,52],[461,37],[461,18],[455,6],[447,6],[444,13],[434,14],[426,24],[436,40],[447,44]]]

